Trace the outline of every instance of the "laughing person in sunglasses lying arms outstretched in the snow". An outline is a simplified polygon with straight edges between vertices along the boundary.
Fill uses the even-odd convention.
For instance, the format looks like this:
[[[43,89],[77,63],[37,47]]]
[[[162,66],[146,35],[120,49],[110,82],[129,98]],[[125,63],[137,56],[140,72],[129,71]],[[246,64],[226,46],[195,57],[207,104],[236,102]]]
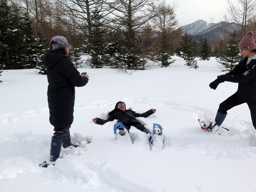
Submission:
[[[117,122],[123,123],[123,125],[126,127],[127,131],[129,132],[129,129],[131,126],[139,129],[140,131],[148,134],[150,133],[148,129],[146,129],[137,119],[136,117],[148,117],[156,112],[156,109],[150,109],[144,113],[136,113],[135,111],[132,111],[130,109],[126,110],[126,105],[124,102],[119,101],[116,103],[115,109],[109,112],[108,119],[100,119],[100,118],[93,118],[92,121],[96,124],[103,125],[107,123],[108,121],[113,121],[117,119]],[[120,135],[124,135],[125,131],[123,128],[119,129]]]

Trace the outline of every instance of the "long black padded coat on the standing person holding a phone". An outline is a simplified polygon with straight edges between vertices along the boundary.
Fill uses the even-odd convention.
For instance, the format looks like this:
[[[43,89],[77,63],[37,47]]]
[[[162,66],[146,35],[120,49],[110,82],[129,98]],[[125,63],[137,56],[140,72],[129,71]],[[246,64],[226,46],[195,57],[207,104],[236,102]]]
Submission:
[[[62,53],[49,51],[43,58],[48,79],[48,105],[50,123],[56,127],[72,124],[75,104],[75,86],[88,83],[87,77],[81,77],[72,62]]]

